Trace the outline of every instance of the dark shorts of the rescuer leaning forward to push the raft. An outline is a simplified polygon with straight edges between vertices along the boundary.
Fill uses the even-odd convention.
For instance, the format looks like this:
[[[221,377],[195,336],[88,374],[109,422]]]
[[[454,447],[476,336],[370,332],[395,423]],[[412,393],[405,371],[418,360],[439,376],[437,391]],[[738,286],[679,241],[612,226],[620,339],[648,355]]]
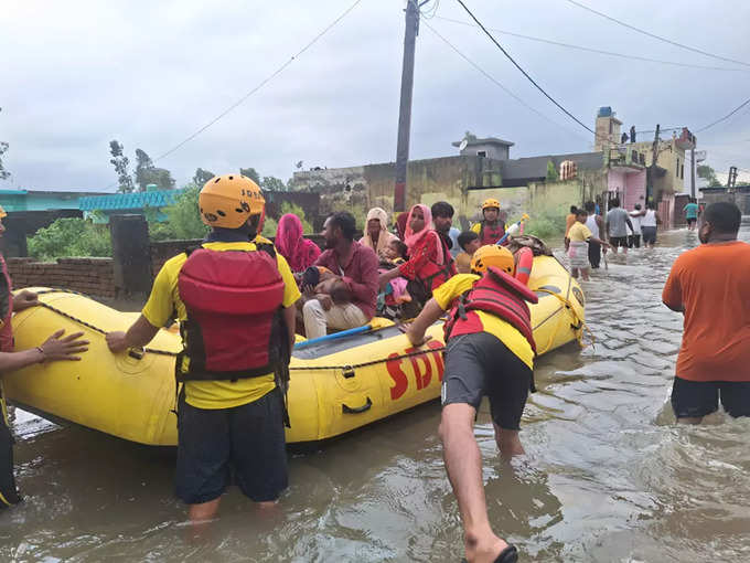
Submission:
[[[442,406],[464,403],[479,410],[486,395],[495,424],[517,431],[533,376],[528,365],[489,332],[461,334],[446,347]]]

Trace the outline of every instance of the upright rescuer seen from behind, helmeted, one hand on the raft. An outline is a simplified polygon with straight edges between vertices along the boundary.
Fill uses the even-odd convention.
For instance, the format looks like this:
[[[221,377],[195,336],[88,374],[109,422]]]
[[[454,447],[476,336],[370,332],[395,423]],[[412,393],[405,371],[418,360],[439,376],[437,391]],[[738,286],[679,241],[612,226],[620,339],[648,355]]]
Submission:
[[[257,236],[265,200],[253,180],[212,178],[199,206],[203,244],[164,263],[138,320],[107,334],[113,352],[142,347],[176,314],[176,495],[193,522],[216,514],[233,472],[261,508],[287,488],[282,390],[300,297],[287,261]]]

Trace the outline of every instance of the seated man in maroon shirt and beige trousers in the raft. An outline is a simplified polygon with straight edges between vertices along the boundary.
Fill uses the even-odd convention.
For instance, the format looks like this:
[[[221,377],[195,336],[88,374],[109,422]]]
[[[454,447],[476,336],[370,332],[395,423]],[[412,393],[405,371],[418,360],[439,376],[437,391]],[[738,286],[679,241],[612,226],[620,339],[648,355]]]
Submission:
[[[328,329],[345,330],[361,327],[375,316],[377,305],[377,255],[375,251],[354,240],[354,216],[339,211],[323,225],[325,252],[315,266],[326,268],[320,282],[338,278],[351,293],[349,302],[335,302],[329,293],[315,293],[306,286],[307,301],[302,307],[304,334],[308,339],[324,337]],[[339,284],[333,287],[338,287]]]

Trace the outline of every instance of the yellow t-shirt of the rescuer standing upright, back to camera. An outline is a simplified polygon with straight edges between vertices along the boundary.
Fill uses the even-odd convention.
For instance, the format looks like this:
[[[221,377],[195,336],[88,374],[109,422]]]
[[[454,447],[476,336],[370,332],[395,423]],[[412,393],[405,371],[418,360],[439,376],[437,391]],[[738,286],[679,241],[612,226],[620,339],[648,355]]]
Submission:
[[[260,242],[265,240],[258,238]],[[204,248],[211,251],[257,251],[255,243],[203,243]],[[174,312],[179,321],[188,318],[185,305],[180,299],[178,276],[182,265],[188,259],[185,253],[178,254],[164,263],[153,280],[153,288],[149,300],[141,311],[146,320],[154,327],[165,326],[173,318]],[[300,291],[294,276],[283,256],[276,253],[276,262],[283,279],[283,307],[291,307],[300,298]],[[196,408],[232,408],[261,399],[274,391],[276,383],[274,374],[259,378],[239,379],[235,382],[225,381],[188,381],[185,382],[185,401]]]

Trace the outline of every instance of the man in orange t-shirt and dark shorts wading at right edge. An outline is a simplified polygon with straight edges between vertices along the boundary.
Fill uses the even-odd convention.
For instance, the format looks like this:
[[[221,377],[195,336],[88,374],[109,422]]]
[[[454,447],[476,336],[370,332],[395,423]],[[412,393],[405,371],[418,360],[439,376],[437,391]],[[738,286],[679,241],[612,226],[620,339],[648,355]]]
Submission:
[[[750,244],[737,240],[740,210],[706,208],[697,248],[673,264],[662,300],[685,315],[672,406],[677,422],[698,424],[721,405],[750,416]]]

